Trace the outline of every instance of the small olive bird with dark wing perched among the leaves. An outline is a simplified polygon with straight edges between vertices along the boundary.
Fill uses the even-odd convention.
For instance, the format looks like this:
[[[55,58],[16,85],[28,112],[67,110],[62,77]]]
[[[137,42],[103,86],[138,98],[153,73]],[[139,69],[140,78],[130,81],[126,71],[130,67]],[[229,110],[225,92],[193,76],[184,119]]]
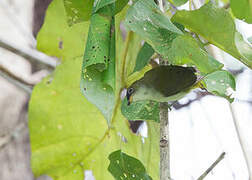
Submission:
[[[141,100],[176,101],[196,88],[196,70],[193,67],[157,66],[127,88],[128,105]]]

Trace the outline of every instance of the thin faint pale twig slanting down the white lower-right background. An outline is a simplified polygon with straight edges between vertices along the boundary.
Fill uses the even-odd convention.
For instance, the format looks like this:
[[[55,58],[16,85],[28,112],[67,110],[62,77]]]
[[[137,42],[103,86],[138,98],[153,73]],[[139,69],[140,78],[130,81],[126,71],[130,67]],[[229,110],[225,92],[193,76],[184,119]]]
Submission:
[[[232,119],[233,119],[235,131],[236,131],[236,134],[237,134],[237,137],[238,137],[238,141],[239,141],[239,143],[240,143],[240,146],[241,146],[241,149],[242,149],[242,153],[243,153],[243,156],[244,156],[244,159],[245,159],[247,168],[248,168],[249,180],[252,180],[252,169],[251,169],[251,166],[250,166],[250,164],[249,164],[248,153],[247,153],[246,150],[245,150],[245,147],[244,147],[244,144],[243,144],[241,135],[240,135],[241,130],[240,130],[240,128],[239,128],[239,125],[237,124],[237,118],[236,118],[236,116],[235,116],[233,107],[232,107],[232,105],[231,105],[230,103],[229,103],[229,109],[230,109],[230,112],[231,112],[231,115],[232,115]]]

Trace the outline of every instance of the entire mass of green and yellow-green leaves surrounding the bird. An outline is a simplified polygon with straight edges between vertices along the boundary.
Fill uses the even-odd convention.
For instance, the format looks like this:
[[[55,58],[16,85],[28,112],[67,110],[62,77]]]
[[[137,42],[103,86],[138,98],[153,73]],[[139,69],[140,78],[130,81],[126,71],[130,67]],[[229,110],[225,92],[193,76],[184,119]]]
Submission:
[[[179,6],[187,0],[170,2]],[[252,67],[250,44],[236,31],[229,12],[211,2],[198,10],[178,10],[171,20],[153,0],[127,3],[50,4],[37,48],[58,57],[61,64],[36,85],[29,103],[36,176],[82,180],[84,171],[92,170],[96,179],[158,179],[159,103],[128,106],[121,91],[152,68],[153,56],[162,56],[170,64],[194,66],[204,77],[201,87],[232,102],[235,79],[205,50],[199,35]],[[236,9],[231,1],[233,14],[250,22],[251,11],[242,12],[242,6]],[[128,120],[152,120],[147,122],[148,138],[143,141],[133,134]]]

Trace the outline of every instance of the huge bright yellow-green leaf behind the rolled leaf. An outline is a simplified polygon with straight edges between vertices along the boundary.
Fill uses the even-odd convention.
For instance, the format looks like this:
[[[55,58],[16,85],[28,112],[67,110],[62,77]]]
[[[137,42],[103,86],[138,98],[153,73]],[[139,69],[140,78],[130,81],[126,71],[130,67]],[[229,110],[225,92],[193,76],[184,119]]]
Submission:
[[[124,15],[122,12],[117,17]],[[113,179],[106,169],[107,157],[121,148],[139,159],[148,174],[158,179],[158,124],[148,124],[148,138],[143,144],[120,113],[117,90],[119,103],[113,115],[113,128],[108,128],[100,111],[83,97],[79,88],[82,58],[76,57],[83,53],[89,23],[70,28],[66,17],[63,2],[54,0],[38,35],[39,50],[60,57],[62,63],[53,75],[35,86],[29,103],[33,173],[36,176],[47,174],[57,180],[83,180],[84,171],[91,170],[96,179]],[[116,20],[116,29],[119,24]],[[117,39],[119,37],[120,32]],[[119,64],[120,61],[119,57]],[[121,74],[118,74],[118,89],[122,84],[120,80]]]

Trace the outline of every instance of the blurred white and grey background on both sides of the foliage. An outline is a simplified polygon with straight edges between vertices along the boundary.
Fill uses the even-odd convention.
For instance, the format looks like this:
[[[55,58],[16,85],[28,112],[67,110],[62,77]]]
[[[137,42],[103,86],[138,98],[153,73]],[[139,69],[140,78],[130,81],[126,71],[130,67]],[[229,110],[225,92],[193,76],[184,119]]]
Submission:
[[[27,110],[32,86],[55,66],[50,63],[55,59],[36,50],[51,1],[0,1],[0,180],[50,179],[31,172]],[[188,9],[188,3],[180,9]],[[252,36],[251,24],[236,20],[236,26],[244,39]],[[172,179],[197,179],[226,152],[205,179],[252,180],[252,71],[214,46],[208,51],[235,75],[235,101],[230,105],[195,91],[174,105],[169,113]]]

